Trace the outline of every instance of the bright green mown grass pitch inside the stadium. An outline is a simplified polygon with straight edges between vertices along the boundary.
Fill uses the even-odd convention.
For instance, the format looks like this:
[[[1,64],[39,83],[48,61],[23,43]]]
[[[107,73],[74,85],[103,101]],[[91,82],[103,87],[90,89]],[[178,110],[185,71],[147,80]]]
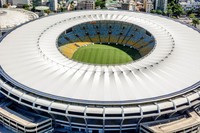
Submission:
[[[123,64],[133,61],[133,58],[123,50],[100,44],[78,48],[72,59],[79,62],[102,65]]]

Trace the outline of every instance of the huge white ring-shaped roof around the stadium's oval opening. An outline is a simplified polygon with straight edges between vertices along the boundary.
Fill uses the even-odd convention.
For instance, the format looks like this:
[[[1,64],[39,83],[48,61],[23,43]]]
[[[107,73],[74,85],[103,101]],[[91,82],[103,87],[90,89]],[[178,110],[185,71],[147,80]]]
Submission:
[[[155,49],[124,65],[98,66],[64,57],[58,36],[74,25],[126,21],[148,30]],[[27,91],[37,95],[94,102],[143,101],[172,97],[200,81],[200,34],[164,17],[127,11],[78,11],[32,21],[0,42],[0,65]]]

